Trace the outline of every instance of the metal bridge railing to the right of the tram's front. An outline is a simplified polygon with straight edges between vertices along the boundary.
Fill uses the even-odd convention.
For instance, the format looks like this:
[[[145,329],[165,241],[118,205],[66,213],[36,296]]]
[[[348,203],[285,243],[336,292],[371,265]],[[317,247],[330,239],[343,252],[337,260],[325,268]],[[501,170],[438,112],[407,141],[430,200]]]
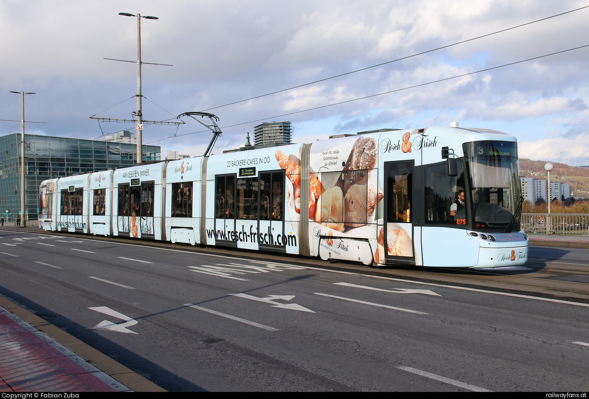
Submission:
[[[589,234],[589,214],[521,214],[521,228],[550,234]]]

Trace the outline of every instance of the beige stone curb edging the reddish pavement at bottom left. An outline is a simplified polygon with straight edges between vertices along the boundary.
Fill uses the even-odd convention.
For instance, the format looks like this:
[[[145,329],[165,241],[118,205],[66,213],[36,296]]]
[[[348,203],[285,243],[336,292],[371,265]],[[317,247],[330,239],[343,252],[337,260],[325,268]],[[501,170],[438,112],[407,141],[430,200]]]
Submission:
[[[32,312],[16,305],[14,302],[9,301],[4,297],[0,297],[0,306],[18,316],[23,321],[28,322],[33,327],[37,328],[37,330],[49,335],[49,337],[64,345],[64,347],[68,348],[88,363],[100,368],[104,373],[110,375],[121,384],[126,385],[131,390],[135,392],[167,392],[164,388],[155,385],[147,380],[147,378],[142,377],[130,368],[112,360],[112,358],[107,355],[95,350],[90,345],[83,343],[78,340],[78,338],[61,330],[61,328],[58,328],[47,320],[44,320]]]

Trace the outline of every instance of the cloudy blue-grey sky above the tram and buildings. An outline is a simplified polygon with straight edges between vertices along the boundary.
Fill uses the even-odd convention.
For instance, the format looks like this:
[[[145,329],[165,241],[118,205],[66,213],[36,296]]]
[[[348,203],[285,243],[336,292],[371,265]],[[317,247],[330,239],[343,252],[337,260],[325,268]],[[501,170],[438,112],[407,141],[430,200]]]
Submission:
[[[130,118],[135,109],[136,19],[142,19],[144,118],[201,111],[570,11],[554,1],[17,1],[0,0],[0,119],[27,132],[98,138],[134,124],[99,127],[91,115]],[[520,157],[589,165],[589,47],[425,85],[589,44],[589,8],[404,61],[211,110],[223,129],[214,153],[245,141],[246,127],[292,121],[293,141],[378,128],[445,126],[497,129],[519,141]],[[124,101],[127,99],[127,101]],[[107,111],[101,112],[121,101]],[[157,105],[156,105],[157,104]],[[161,107],[161,108],[160,108]],[[100,112],[100,114],[99,114]],[[196,121],[148,126],[144,143],[201,155],[210,141]],[[249,123],[248,123],[249,122]],[[19,132],[0,122],[0,135]],[[178,137],[167,138],[177,134]],[[184,136],[180,136],[184,135]],[[167,139],[166,139],[167,138]]]

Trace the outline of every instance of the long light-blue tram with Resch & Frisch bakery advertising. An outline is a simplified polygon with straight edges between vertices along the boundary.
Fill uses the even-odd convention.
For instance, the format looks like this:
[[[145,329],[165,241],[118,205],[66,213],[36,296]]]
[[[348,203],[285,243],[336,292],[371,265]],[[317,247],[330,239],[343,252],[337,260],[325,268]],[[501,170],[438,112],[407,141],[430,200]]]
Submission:
[[[346,260],[527,261],[517,139],[380,129],[48,179],[39,227]]]

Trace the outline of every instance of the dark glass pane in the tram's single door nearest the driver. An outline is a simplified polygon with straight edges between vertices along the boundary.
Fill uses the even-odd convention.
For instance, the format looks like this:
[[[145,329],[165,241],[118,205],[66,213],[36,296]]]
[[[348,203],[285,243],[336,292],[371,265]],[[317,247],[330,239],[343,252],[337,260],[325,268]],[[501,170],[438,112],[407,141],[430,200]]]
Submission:
[[[409,162],[395,162],[385,168],[387,179],[388,223],[411,223],[411,203],[413,197],[413,167]]]

